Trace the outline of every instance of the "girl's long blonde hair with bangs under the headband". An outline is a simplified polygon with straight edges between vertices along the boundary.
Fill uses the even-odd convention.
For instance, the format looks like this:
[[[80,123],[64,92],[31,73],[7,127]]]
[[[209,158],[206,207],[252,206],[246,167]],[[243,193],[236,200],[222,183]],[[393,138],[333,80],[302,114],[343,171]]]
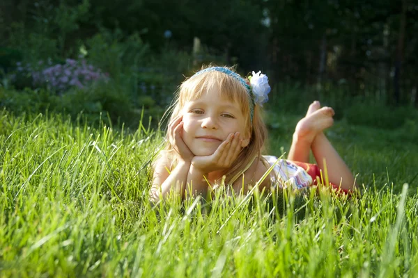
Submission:
[[[225,67],[233,72],[233,68]],[[247,79],[245,79],[247,81]],[[169,108],[172,111],[169,122],[177,117],[187,101],[199,99],[203,93],[213,87],[219,88],[219,93],[229,101],[236,101],[241,106],[242,115],[245,115],[246,136],[250,136],[249,144],[243,148],[238,158],[235,159],[231,168],[226,169],[222,174],[226,176],[226,183],[230,184],[235,181],[254,161],[261,161],[261,152],[267,141],[267,128],[261,117],[261,110],[258,105],[254,106],[253,119],[251,122],[250,105],[251,97],[247,88],[240,81],[229,74],[218,72],[216,70],[206,71],[194,74],[186,79],[178,88],[173,104]],[[166,135],[167,145],[165,149],[167,158],[171,159],[171,168],[177,164],[176,151],[169,143],[169,134]]]

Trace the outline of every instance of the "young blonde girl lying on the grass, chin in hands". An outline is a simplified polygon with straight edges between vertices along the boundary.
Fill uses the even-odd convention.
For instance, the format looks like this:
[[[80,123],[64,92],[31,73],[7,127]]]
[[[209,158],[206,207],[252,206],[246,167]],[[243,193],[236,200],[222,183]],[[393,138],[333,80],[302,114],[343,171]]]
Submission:
[[[154,202],[171,190],[202,194],[225,182],[236,193],[247,193],[271,165],[260,190],[272,186],[304,188],[316,184],[326,161],[335,188],[352,190],[354,178],[323,130],[332,126],[332,108],[314,101],[297,124],[288,160],[262,156],[267,129],[261,106],[268,100],[267,76],[249,79],[227,67],[208,67],[180,85],[167,130],[167,146],[153,163]],[[318,165],[309,164],[312,150]],[[275,164],[274,164],[275,163]]]

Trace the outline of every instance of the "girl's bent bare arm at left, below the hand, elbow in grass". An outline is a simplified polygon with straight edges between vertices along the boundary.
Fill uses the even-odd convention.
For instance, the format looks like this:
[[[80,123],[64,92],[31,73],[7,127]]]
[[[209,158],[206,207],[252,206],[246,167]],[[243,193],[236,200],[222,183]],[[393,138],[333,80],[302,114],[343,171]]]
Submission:
[[[155,162],[153,174],[153,186],[150,190],[150,200],[158,202],[160,197],[165,199],[167,194],[173,189],[175,193],[183,195],[187,182],[190,162],[180,160],[176,167],[169,172],[170,161],[165,154]]]

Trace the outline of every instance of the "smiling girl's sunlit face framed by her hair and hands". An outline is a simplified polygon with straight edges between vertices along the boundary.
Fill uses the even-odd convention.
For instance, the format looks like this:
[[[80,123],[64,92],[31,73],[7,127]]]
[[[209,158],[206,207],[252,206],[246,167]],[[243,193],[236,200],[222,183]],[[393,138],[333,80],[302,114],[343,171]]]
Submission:
[[[214,87],[183,107],[183,140],[195,156],[209,156],[230,133],[239,132],[241,147],[249,143],[240,104],[230,101]]]

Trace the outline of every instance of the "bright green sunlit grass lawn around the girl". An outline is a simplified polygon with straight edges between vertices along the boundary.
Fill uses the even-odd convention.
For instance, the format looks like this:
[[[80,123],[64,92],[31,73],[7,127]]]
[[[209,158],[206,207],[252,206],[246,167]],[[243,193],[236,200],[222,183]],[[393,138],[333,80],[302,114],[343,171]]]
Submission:
[[[296,121],[277,115],[270,154],[288,149]],[[3,111],[0,276],[412,277],[418,147],[406,130],[344,121],[327,135],[362,195],[285,190],[153,207],[158,133]]]

